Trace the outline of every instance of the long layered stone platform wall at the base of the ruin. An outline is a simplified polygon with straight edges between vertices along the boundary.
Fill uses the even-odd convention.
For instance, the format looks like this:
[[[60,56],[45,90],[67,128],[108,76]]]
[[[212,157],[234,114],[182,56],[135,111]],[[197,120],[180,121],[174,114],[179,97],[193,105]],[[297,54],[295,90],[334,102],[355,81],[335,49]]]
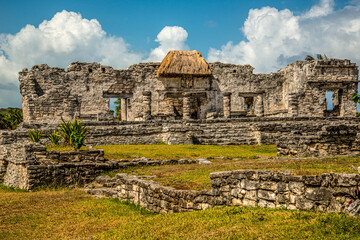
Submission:
[[[359,118],[239,118],[85,124],[88,145],[276,144],[280,155],[335,156],[359,154],[359,123]],[[0,131],[0,146],[29,141],[29,129],[40,128],[45,136],[55,127],[23,124],[15,131]]]

